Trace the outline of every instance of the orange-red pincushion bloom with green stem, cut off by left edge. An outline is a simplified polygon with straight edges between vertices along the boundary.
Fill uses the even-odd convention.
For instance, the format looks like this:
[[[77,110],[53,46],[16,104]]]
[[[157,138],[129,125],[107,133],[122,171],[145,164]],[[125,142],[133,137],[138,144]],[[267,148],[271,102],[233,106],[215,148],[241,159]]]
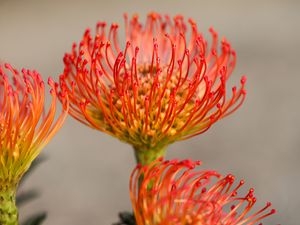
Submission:
[[[26,69],[21,74],[9,64],[0,65],[0,224],[3,225],[18,224],[15,206],[18,182],[60,129],[68,109],[67,97],[61,95],[63,112],[55,121],[55,83],[49,79],[52,101],[45,112],[41,76]]]

